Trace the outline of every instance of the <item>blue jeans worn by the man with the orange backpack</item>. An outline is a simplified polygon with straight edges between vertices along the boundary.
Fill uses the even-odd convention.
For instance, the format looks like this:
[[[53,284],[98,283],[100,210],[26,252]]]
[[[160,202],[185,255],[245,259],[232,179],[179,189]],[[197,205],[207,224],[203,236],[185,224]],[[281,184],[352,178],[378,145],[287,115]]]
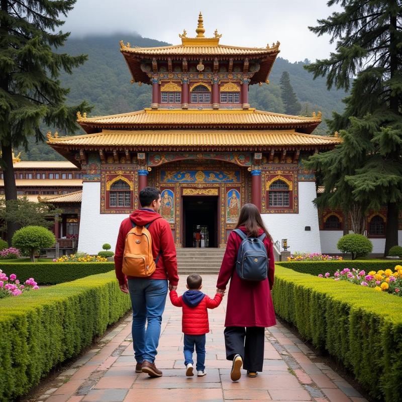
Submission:
[[[133,306],[133,347],[137,363],[154,363],[167,295],[166,279],[128,279]],[[145,329],[145,323],[147,328]]]

